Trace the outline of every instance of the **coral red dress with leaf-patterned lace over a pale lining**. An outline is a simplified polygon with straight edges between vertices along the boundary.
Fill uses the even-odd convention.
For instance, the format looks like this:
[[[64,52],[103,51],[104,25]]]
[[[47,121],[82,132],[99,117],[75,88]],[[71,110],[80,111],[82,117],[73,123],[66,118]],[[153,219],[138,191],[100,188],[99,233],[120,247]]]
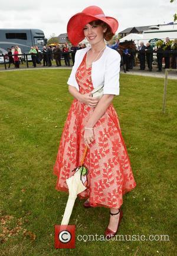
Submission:
[[[91,67],[86,67],[86,54],[77,69],[76,80],[81,94],[94,89]],[[93,111],[94,108],[76,98],[71,103],[53,167],[53,174],[57,176],[57,190],[68,192],[65,180],[73,175],[71,170],[80,165],[86,147],[84,126]],[[120,208],[124,193],[134,189],[136,182],[112,103],[94,125],[93,132],[94,141],[89,144],[84,160],[84,165],[89,169],[88,187],[78,197],[89,197],[93,207]]]

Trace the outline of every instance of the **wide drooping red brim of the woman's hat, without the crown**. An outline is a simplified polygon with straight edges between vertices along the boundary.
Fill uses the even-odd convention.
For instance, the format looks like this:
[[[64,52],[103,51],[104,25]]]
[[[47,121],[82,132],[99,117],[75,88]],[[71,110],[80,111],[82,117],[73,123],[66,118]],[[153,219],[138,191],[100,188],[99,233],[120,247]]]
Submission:
[[[115,18],[112,17],[99,17],[96,18],[94,15],[87,15],[83,12],[79,12],[70,18],[67,24],[67,34],[68,38],[73,44],[73,46],[77,46],[84,38],[84,25],[91,21],[101,20],[106,22],[107,25],[110,26],[113,34],[116,33],[117,28],[119,27],[119,23]]]

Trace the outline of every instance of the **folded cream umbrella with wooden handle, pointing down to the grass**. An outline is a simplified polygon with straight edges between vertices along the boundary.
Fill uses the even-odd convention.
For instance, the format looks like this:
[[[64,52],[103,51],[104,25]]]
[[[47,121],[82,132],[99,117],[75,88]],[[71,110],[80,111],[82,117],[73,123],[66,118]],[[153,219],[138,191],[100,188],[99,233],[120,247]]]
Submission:
[[[63,219],[61,221],[61,225],[68,225],[77,195],[87,189],[87,174],[89,171],[87,167],[83,164],[84,158],[87,154],[87,148],[88,147],[86,146],[80,166],[74,168],[74,170],[72,171],[76,170],[76,172],[73,176],[66,180],[69,190],[69,196],[67,200],[67,205],[65,207]]]

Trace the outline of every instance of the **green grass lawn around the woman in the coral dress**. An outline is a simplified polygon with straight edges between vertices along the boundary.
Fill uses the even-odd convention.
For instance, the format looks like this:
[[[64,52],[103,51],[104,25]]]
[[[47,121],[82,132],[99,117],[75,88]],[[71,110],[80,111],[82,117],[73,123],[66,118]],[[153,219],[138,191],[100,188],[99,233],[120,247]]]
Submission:
[[[146,241],[78,241],[54,249],[68,195],[57,192],[53,166],[73,96],[71,70],[0,73],[1,252],[6,256],[175,255],[176,80],[169,80],[162,113],[163,79],[120,75],[119,116],[137,186],[123,196],[121,235]],[[77,198],[70,225],[77,235],[103,235],[109,209],[83,208]],[[157,235],[159,241],[149,241]],[[160,241],[168,235],[169,241]],[[129,239],[127,237],[127,239]]]

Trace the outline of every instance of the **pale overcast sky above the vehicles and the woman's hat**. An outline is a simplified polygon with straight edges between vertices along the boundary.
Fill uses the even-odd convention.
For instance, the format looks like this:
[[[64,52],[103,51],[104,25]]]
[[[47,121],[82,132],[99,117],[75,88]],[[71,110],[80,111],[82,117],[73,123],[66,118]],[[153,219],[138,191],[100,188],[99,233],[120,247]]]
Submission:
[[[0,28],[38,28],[45,37],[67,33],[67,22],[89,5],[97,5],[106,16],[119,21],[117,33],[127,27],[166,24],[173,21],[177,2],[169,0],[1,0]]]

